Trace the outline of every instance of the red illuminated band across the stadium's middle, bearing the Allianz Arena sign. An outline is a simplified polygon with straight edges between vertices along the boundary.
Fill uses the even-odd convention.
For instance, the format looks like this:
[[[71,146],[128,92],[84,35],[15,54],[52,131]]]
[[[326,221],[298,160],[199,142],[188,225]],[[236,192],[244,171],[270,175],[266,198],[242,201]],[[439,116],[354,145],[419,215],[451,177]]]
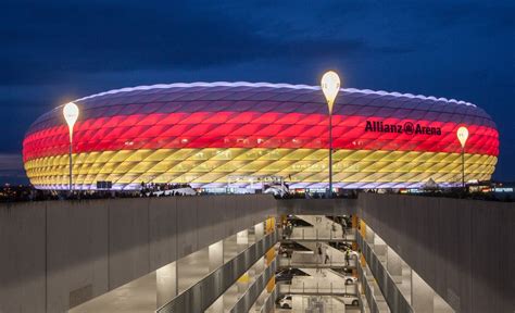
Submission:
[[[335,115],[335,149],[461,152],[455,130],[461,124],[435,121]],[[441,135],[365,132],[367,121],[439,127]],[[498,155],[494,128],[467,125],[468,153]],[[121,142],[128,141],[130,145]],[[328,121],[323,114],[197,112],[135,114],[77,122],[74,152],[160,148],[328,148]],[[24,160],[67,153],[67,128],[58,126],[28,135]]]

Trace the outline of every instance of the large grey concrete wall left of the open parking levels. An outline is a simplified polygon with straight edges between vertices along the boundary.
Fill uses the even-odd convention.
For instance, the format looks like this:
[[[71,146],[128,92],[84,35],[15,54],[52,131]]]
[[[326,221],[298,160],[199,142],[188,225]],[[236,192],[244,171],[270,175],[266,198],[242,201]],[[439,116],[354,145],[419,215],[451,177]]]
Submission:
[[[0,312],[65,312],[276,214],[271,196],[0,205]]]

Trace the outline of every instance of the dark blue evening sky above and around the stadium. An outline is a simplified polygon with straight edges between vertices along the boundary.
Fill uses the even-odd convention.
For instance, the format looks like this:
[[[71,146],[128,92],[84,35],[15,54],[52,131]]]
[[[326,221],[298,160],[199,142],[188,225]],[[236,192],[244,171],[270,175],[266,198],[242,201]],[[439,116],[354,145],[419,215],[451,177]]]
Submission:
[[[494,178],[515,180],[515,2],[4,0],[0,183],[26,181],[25,130],[93,92],[248,80],[454,98],[495,121]]]

